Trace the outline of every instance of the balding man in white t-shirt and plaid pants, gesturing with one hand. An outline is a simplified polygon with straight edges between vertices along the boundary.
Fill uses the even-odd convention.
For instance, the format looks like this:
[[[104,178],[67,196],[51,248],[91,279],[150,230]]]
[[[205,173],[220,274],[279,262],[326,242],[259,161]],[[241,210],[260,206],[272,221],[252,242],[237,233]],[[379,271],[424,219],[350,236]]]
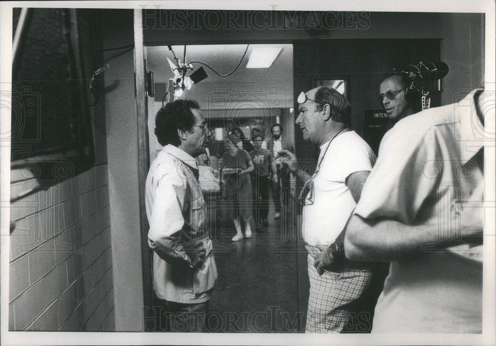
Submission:
[[[375,162],[369,145],[347,127],[348,100],[327,86],[298,97],[303,138],[319,145],[314,173],[308,176],[293,153],[281,150],[281,159],[304,181],[302,235],[307,243],[310,279],[307,333],[339,333],[350,320],[352,307],[363,297],[372,279],[368,264],[350,262],[335,242],[360,199],[362,186]],[[329,260],[329,257],[331,260]],[[333,260],[333,258],[336,258]],[[331,266],[322,263],[333,262]]]

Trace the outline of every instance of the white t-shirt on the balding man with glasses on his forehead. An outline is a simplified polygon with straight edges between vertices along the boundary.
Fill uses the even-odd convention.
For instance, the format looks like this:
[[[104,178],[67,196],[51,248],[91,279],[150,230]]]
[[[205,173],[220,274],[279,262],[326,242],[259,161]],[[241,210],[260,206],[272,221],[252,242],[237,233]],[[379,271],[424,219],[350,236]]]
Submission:
[[[328,144],[320,147],[317,163]],[[303,207],[302,234],[309,245],[332,244],[343,231],[357,205],[345,181],[352,173],[371,171],[374,163],[372,149],[355,131],[344,132],[332,140],[313,179],[314,203]],[[309,195],[310,192],[307,198]]]

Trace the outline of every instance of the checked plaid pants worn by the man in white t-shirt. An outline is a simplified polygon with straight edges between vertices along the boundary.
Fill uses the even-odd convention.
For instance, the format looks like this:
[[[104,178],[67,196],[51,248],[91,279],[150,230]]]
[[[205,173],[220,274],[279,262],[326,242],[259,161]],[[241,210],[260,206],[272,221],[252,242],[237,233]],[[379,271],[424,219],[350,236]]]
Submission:
[[[372,280],[372,270],[361,263],[344,260],[339,272],[319,276],[308,255],[310,279],[306,333],[340,333],[352,317],[349,307],[356,303]]]

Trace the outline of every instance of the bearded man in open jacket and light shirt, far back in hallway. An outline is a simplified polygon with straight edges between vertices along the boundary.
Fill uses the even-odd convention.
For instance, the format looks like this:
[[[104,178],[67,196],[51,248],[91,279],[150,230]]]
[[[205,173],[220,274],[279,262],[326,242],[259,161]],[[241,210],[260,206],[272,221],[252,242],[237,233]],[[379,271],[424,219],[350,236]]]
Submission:
[[[295,151],[293,145],[287,139],[282,138],[283,128],[281,124],[273,124],[270,128],[270,132],[272,134],[272,138],[266,142],[263,142],[262,148],[270,151],[274,158],[280,150],[285,149],[291,152]],[[291,176],[288,166],[285,163],[276,159],[274,164],[276,171],[271,174],[271,191],[275,207],[274,219],[279,219],[281,217],[282,204],[287,206],[289,202]]]

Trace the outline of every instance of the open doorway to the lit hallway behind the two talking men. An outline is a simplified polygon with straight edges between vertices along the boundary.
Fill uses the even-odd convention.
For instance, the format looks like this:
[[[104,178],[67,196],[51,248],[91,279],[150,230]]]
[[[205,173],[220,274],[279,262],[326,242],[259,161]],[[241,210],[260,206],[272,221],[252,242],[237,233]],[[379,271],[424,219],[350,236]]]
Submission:
[[[258,49],[276,52],[268,67],[248,66],[250,57]],[[209,155],[199,166],[218,270],[218,281],[209,302],[211,318],[206,321],[207,329],[217,333],[300,332],[303,313],[298,301],[295,220],[274,219],[271,199],[268,225],[257,224],[250,238],[231,241],[236,231],[226,215],[222,182],[210,174],[222,140],[235,127],[243,131],[248,141],[255,128],[268,141],[271,126],[279,123],[284,129],[282,139],[294,146],[293,46],[188,45],[186,54],[185,46],[153,46],[145,47],[145,57],[146,70],[153,71],[155,89],[154,97],[148,97],[147,104],[150,162],[162,149],[154,135],[154,115],[172,100],[174,81],[178,77],[173,68],[185,60],[187,64],[193,61],[193,69],[186,75],[194,75],[200,67],[204,69],[203,76],[207,75],[190,89],[186,87],[180,96],[198,102],[210,131]],[[291,213],[286,211],[286,214]],[[150,252],[149,249],[144,251]],[[144,280],[149,282],[144,285],[145,290],[151,290],[151,271],[144,273]],[[147,295],[153,297],[153,292],[145,292],[145,297]]]

